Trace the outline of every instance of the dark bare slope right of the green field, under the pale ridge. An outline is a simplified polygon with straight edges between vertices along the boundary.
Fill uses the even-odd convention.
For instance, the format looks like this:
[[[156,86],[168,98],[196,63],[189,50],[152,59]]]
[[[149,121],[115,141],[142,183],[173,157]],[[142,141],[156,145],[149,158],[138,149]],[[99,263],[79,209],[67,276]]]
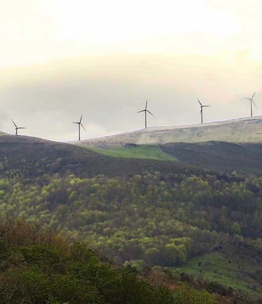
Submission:
[[[230,143],[209,141],[202,143],[167,143],[162,150],[176,157],[182,164],[215,172],[262,174],[261,143]]]

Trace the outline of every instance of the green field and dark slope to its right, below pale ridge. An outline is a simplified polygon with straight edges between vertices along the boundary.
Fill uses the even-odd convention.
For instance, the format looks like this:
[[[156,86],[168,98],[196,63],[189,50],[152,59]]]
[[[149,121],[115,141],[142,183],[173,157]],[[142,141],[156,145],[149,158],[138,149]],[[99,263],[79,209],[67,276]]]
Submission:
[[[88,147],[88,149],[115,158],[177,162],[185,167],[190,166],[217,173],[232,173],[233,171],[239,174],[260,175],[262,173],[262,143],[174,142],[163,145],[127,144],[112,149],[94,147]]]

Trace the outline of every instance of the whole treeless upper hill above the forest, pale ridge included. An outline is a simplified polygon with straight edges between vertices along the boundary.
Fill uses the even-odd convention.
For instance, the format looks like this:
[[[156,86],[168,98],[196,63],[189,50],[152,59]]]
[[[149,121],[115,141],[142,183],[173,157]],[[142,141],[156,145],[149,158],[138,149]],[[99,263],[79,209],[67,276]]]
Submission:
[[[26,175],[71,171],[89,177],[126,176],[145,170],[161,173],[237,171],[260,175],[261,130],[262,116],[255,116],[186,126],[148,127],[68,143],[0,132],[3,167],[0,174],[17,174],[15,166]]]

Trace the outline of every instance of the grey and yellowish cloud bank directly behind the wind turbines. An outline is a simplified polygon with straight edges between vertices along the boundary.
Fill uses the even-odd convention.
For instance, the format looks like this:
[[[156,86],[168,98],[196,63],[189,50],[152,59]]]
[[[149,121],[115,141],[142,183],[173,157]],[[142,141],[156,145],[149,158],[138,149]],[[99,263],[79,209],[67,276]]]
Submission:
[[[1,129],[13,132],[11,117],[24,134],[55,140],[77,136],[72,122],[84,114],[87,133],[95,137],[144,127],[143,110],[155,115],[148,125],[199,122],[196,97],[211,105],[205,121],[249,115],[245,96],[257,91],[259,67],[248,56],[122,55],[84,56],[1,71]],[[241,65],[241,69],[239,68]]]

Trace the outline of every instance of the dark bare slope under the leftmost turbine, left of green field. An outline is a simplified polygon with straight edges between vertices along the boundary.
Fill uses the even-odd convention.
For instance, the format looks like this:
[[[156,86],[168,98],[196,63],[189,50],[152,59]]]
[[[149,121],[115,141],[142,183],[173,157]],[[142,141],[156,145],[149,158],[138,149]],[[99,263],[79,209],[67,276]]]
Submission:
[[[195,170],[174,162],[114,158],[72,144],[29,136],[0,136],[0,150],[0,174],[8,177],[66,172],[86,177],[129,176],[145,171],[183,173],[186,169]]]

